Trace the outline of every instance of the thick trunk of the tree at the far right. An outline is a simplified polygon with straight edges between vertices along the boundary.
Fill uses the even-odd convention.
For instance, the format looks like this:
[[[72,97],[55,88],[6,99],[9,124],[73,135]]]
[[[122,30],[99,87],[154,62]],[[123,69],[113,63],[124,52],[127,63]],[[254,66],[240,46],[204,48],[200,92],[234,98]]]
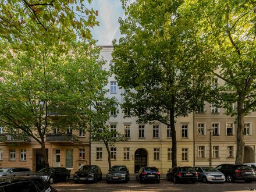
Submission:
[[[241,164],[244,161],[244,109],[243,97],[239,95],[237,101],[237,148],[236,148],[236,164]]]

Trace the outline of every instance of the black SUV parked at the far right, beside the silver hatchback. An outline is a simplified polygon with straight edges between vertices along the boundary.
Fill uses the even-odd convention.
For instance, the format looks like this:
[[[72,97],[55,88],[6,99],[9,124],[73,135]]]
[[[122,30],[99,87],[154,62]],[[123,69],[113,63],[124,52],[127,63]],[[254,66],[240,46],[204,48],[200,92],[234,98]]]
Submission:
[[[222,164],[216,166],[216,169],[226,176],[226,181],[229,183],[233,183],[235,180],[251,183],[256,176],[255,170],[247,165]]]

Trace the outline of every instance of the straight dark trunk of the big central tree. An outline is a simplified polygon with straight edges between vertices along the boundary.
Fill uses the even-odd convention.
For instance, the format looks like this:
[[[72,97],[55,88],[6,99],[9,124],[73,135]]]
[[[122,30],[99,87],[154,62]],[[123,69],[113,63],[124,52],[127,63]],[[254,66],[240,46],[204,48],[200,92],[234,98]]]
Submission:
[[[172,168],[177,166],[177,141],[174,112],[170,111],[170,129],[172,130]]]

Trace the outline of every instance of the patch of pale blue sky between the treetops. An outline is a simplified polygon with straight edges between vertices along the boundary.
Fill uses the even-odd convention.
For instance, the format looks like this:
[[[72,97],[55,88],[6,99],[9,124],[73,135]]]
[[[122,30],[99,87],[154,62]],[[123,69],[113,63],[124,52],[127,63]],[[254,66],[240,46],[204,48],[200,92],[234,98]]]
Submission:
[[[99,26],[91,30],[93,38],[98,40],[97,45],[112,45],[113,39],[119,39],[118,18],[123,17],[122,3],[120,0],[93,0],[89,8],[98,10],[97,20]]]

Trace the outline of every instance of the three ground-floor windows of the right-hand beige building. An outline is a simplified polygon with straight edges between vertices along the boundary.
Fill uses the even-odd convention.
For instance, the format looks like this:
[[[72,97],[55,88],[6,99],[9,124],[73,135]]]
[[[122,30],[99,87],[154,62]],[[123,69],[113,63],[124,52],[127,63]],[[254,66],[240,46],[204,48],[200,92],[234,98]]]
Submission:
[[[234,147],[227,146],[227,158],[234,158]],[[198,158],[205,158],[205,146],[198,146]],[[212,146],[212,158],[219,158],[219,146]]]

